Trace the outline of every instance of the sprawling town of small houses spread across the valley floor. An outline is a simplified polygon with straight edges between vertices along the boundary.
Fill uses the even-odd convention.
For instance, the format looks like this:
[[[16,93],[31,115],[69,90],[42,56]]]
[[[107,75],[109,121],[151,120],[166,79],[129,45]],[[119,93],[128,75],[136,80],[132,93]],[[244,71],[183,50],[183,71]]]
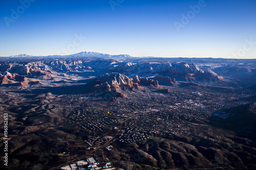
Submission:
[[[123,132],[119,137],[120,142],[146,140],[151,135],[161,133],[184,134],[184,123],[189,124],[192,119],[206,118],[213,113],[228,117],[229,114],[223,112],[223,109],[246,102],[238,100],[245,94],[229,98],[230,96],[221,93],[174,89],[172,93],[151,93],[150,98],[145,98],[144,93],[146,92],[136,93],[137,97],[133,102],[128,102],[129,104],[120,100],[108,103],[105,107],[95,107],[92,102],[70,115],[69,121],[97,134],[97,137],[89,136],[86,142],[91,147],[98,147],[108,141],[100,134],[110,132],[111,129],[118,130],[121,123],[130,116],[133,118],[125,122],[120,129]]]

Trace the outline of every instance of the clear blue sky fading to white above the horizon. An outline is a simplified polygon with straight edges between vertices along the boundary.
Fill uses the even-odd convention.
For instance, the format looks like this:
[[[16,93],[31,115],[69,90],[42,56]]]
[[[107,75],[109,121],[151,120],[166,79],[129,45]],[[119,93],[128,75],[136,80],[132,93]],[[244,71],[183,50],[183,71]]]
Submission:
[[[69,47],[65,53],[256,58],[255,0],[206,0],[194,14],[194,0],[33,1],[28,8],[0,1],[0,56],[63,54]],[[178,31],[182,14],[191,19]]]

